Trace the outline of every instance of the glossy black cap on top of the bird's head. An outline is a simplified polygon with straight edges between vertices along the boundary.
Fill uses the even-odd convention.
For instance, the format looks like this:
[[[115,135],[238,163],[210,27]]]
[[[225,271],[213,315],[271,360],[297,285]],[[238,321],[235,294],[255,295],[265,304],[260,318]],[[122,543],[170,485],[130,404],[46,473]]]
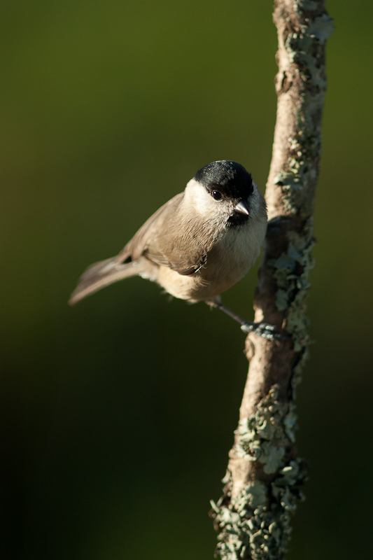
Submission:
[[[194,176],[207,190],[216,188],[225,197],[246,200],[253,193],[253,179],[246,169],[236,162],[219,160],[209,163]]]

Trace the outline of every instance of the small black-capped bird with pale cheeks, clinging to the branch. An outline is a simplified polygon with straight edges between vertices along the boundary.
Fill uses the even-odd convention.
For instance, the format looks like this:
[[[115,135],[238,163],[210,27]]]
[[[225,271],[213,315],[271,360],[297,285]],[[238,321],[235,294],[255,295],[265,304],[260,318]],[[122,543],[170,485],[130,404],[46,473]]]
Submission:
[[[150,216],[117,256],[88,267],[69,303],[141,276],[171,296],[221,309],[246,332],[276,338],[273,325],[242,320],[220,298],[253,266],[266,231],[265,199],[251,174],[234,161],[211,162],[197,171],[183,193]]]

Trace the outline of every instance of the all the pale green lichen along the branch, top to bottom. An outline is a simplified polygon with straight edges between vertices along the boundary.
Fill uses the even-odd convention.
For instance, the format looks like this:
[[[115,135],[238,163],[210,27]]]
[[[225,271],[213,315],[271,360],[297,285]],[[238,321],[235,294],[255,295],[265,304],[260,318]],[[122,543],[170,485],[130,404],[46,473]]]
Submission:
[[[237,456],[252,462],[255,468],[251,475],[258,475],[264,482],[249,482],[239,496],[232,497],[232,479],[227,472],[223,480],[227,484],[225,496],[217,504],[211,503],[220,530],[216,552],[222,560],[282,560],[290,540],[290,517],[297,500],[302,499],[300,487],[306,476],[303,461],[294,458],[294,388],[309,353],[305,313],[308,276],[314,266],[309,216],[321,155],[320,116],[326,90],[324,44],[333,25],[325,13],[312,17],[311,12],[320,8],[317,1],[297,0],[293,8],[301,15],[302,25],[288,34],[285,48],[302,83],[296,99],[297,123],[288,135],[288,158],[274,183],[281,188],[285,214],[296,216],[306,225],[301,233],[289,232],[288,248],[268,264],[273,267],[277,283],[276,307],[284,313],[283,328],[293,339],[298,360],[293,368],[290,402],[280,402],[279,386],[274,385],[258,403],[255,413],[239,423]],[[291,87],[285,78],[288,76],[284,73],[278,83],[290,83]]]

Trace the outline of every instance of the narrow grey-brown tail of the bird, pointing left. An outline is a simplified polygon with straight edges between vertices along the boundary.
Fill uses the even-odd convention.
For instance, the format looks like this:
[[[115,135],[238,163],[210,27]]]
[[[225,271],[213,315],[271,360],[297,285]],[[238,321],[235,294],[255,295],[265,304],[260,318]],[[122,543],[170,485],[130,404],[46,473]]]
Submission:
[[[128,278],[129,276],[141,274],[141,262],[135,261],[123,265],[118,262],[117,259],[118,257],[113,257],[101,260],[100,262],[95,262],[94,265],[87,268],[80,277],[78,286],[71,294],[69,304],[73,305],[78,301],[83,300],[83,297],[91,295],[113,282]]]

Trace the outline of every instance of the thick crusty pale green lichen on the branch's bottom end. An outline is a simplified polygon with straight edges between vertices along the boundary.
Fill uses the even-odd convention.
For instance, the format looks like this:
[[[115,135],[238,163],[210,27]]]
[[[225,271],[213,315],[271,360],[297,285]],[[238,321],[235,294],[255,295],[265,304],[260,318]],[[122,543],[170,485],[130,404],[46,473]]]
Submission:
[[[274,385],[250,418],[239,425],[237,450],[248,461],[264,463],[267,473],[277,472],[267,486],[255,480],[232,498],[230,506],[211,502],[220,528],[217,553],[222,560],[281,560],[290,540],[290,514],[302,498],[302,461],[285,460],[285,446],[294,441],[295,406],[279,402]],[[267,468],[267,470],[266,470]],[[229,484],[229,473],[224,482]]]

